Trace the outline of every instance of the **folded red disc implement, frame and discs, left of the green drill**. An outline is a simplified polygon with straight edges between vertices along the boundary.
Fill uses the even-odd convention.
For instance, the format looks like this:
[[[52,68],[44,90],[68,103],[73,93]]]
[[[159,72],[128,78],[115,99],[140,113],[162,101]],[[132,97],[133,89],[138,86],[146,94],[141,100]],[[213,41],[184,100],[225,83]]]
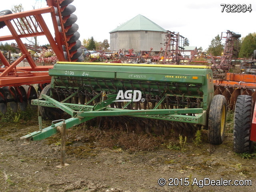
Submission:
[[[0,52],[2,66],[0,68],[0,112],[5,113],[7,103],[14,112],[18,103],[22,110],[26,110],[28,101],[37,98],[36,89],[32,86],[38,84],[38,91],[50,83],[48,70],[53,66],[37,66],[29,50],[22,42],[22,38],[46,36],[52,50],[59,61],[82,61],[80,34],[75,24],[76,16],[72,14],[76,8],[70,3],[73,0],[46,0],[48,7],[25,12],[14,13],[10,10],[0,12],[0,28],[6,26],[11,35],[0,36],[0,41],[15,40],[22,55],[12,64]],[[52,36],[42,14],[50,13],[54,27]],[[29,66],[20,67],[18,64],[24,59]]]

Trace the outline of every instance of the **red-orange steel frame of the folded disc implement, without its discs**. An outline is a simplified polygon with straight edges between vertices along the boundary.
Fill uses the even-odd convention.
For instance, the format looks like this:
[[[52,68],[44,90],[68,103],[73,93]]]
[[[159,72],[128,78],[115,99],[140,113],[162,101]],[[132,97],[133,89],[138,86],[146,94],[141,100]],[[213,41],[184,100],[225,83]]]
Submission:
[[[22,56],[11,65],[2,52],[0,52],[0,60],[2,61],[2,64],[4,64],[4,68],[0,68],[0,87],[49,83],[51,80],[50,76],[48,76],[48,70],[53,66],[36,66],[34,60],[30,56],[30,52],[27,50],[21,38],[45,35],[58,60],[66,61],[62,49],[62,45],[67,46],[67,43],[64,40],[66,37],[64,37],[63,33],[58,30],[53,6],[53,3],[57,2],[57,4],[59,4],[59,1],[54,2],[53,0],[48,0],[47,2],[49,5],[47,8],[0,16],[0,22],[4,22],[11,32],[11,35],[0,36],[0,41],[15,40],[22,52]],[[51,14],[55,39],[52,37],[50,30],[42,17],[42,14],[45,13]],[[18,26],[23,26],[23,28],[18,28]],[[62,26],[62,28],[64,27]],[[17,65],[24,59],[27,60],[30,67],[17,67]],[[68,60],[70,60],[69,55]]]

